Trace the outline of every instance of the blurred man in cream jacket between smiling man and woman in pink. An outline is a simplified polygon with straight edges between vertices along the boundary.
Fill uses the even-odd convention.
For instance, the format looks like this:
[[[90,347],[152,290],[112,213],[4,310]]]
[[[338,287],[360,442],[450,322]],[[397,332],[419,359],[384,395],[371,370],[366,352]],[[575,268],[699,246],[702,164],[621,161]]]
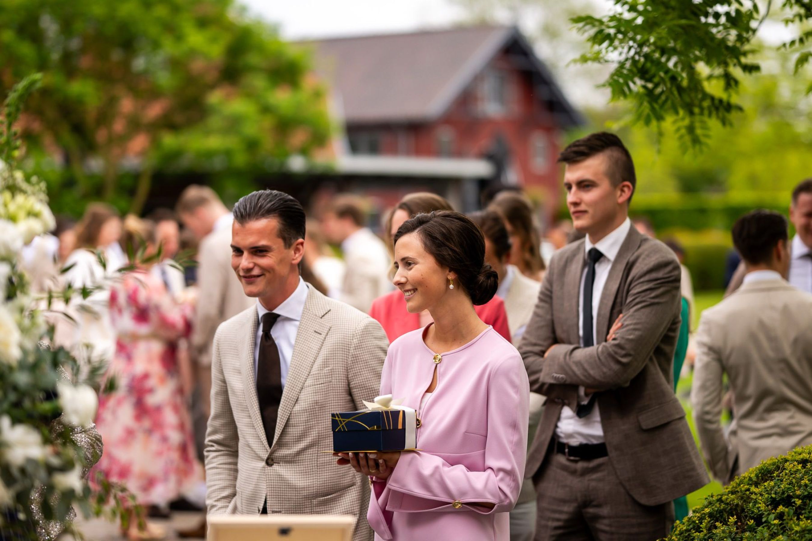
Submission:
[[[336,298],[369,312],[372,302],[392,290],[391,258],[387,247],[368,227],[361,200],[339,195],[322,215],[322,232],[330,243],[340,244],[347,272]]]

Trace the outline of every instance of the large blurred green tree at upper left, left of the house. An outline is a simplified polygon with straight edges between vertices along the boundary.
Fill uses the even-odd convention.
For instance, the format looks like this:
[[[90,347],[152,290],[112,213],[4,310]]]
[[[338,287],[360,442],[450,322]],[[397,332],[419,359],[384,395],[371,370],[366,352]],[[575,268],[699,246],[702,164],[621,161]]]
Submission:
[[[138,212],[156,170],[279,167],[330,135],[306,51],[233,0],[4,0],[0,28],[0,92],[44,74],[24,135],[63,204]]]

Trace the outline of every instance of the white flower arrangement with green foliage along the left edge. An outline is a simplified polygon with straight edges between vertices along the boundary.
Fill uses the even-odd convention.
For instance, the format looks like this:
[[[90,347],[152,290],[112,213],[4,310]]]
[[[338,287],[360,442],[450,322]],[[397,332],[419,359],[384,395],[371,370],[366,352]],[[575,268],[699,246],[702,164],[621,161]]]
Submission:
[[[16,168],[14,125],[40,80],[21,81],[0,109],[0,539],[53,539],[74,506],[89,516],[110,496],[126,497],[110,483],[92,494],[84,481],[102,452],[93,419],[104,367],[50,347],[45,312],[54,295],[68,303],[87,292],[37,298],[19,265],[22,247],[54,227],[44,182]]]

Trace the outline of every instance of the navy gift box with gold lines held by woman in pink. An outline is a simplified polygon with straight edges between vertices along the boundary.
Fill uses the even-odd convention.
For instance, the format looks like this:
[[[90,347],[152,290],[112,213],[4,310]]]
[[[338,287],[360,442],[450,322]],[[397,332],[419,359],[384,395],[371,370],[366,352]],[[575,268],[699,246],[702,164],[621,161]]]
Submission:
[[[417,444],[415,410],[363,410],[330,414],[334,453],[404,451]]]

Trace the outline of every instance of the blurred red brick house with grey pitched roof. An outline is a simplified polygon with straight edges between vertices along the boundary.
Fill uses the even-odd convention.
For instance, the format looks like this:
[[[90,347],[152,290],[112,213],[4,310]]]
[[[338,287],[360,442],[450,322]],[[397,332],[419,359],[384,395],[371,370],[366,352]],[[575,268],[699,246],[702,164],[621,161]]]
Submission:
[[[520,186],[558,200],[562,133],[582,123],[512,27],[313,41],[353,155],[482,158],[481,189]]]

